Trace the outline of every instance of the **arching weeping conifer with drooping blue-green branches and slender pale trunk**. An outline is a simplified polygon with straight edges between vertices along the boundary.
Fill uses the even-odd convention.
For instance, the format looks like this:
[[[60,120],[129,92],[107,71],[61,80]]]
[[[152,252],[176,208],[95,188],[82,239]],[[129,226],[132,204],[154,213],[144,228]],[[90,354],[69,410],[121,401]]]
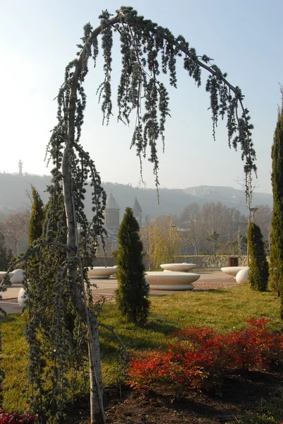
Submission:
[[[46,360],[48,352],[52,353],[54,367],[54,386],[52,391],[45,390],[38,401],[52,405],[50,419],[56,416],[57,422],[64,420],[62,411],[66,404],[68,373],[66,357],[71,355],[70,334],[66,322],[66,310],[76,314],[80,326],[85,326],[88,334],[89,370],[90,370],[90,418],[91,423],[104,423],[102,403],[102,377],[100,370],[99,323],[97,316],[88,307],[85,283],[88,286],[87,266],[95,253],[97,237],[103,236],[103,210],[105,193],[100,175],[90,155],[83,150],[80,143],[86,95],[85,76],[89,70],[90,59],[96,65],[99,54],[98,37],[101,37],[102,56],[104,58],[104,79],[99,86],[103,122],[109,122],[112,115],[112,37],[116,33],[121,42],[121,78],[118,87],[118,118],[128,123],[132,112],[136,112],[136,126],[133,131],[132,146],[142,158],[150,149],[149,160],[153,165],[155,182],[158,187],[157,141],[164,143],[165,122],[169,116],[169,95],[167,88],[159,78],[160,73],[169,74],[169,84],[177,85],[176,60],[183,61],[183,68],[188,76],[200,86],[201,70],[208,73],[206,90],[210,94],[212,111],[212,133],[218,119],[227,119],[227,137],[229,146],[241,148],[246,176],[255,168],[255,151],[251,141],[251,129],[248,110],[243,107],[243,94],[239,87],[227,81],[227,74],[212,63],[212,59],[203,54],[199,56],[181,35],[174,35],[167,29],[138,16],[133,8],[122,7],[111,17],[108,11],[102,12],[100,25],[93,29],[90,23],[84,27],[82,42],[78,45],[76,59],[65,70],[58,100],[57,124],[47,148],[47,155],[54,163],[53,181],[49,190],[49,206],[44,223],[43,240],[40,247],[28,250],[25,257],[40,252],[42,267],[38,270],[38,290],[33,302],[33,313],[40,319],[39,310],[55,307],[54,320],[46,322],[46,331],[38,340],[37,333],[32,333],[30,343],[41,343],[40,351],[34,358],[30,355],[34,382],[36,373],[40,373],[40,382],[44,383],[44,369],[41,360]],[[93,218],[88,222],[83,209],[85,184],[90,179],[92,185]],[[78,226],[80,234],[78,235]],[[41,249],[42,246],[45,249]],[[23,258],[21,259],[23,260]],[[34,275],[35,279],[36,276]],[[43,284],[44,278],[48,281]],[[32,293],[31,293],[32,295]],[[48,299],[49,297],[49,299]],[[42,299],[44,298],[44,302]],[[52,310],[53,311],[53,310]],[[42,312],[43,314],[43,312]],[[47,312],[46,312],[47,314]],[[49,316],[47,314],[47,316]],[[31,316],[32,320],[33,317]],[[32,322],[35,322],[33,319]],[[42,328],[44,322],[41,321]],[[54,337],[52,338],[52,334]],[[54,346],[51,349],[52,339]],[[44,351],[45,348],[45,351]],[[41,384],[41,383],[40,383]],[[37,384],[38,392],[40,386]],[[60,394],[55,396],[54,393]],[[34,400],[34,399],[33,399]]]

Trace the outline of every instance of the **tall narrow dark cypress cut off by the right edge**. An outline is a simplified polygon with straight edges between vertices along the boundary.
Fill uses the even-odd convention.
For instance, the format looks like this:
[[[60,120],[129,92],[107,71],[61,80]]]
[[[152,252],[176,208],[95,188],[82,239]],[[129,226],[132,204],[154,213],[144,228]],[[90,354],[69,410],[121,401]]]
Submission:
[[[270,285],[281,296],[280,315],[283,319],[283,89],[282,105],[278,108],[277,124],[272,144],[272,246],[270,252]]]

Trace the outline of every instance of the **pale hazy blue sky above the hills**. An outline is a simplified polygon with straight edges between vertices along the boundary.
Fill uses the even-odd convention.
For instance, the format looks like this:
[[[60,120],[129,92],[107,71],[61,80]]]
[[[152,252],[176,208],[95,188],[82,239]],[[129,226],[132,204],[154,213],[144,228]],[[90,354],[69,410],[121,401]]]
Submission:
[[[114,0],[0,0],[1,154],[0,171],[48,174],[44,163],[50,130],[56,124],[54,98],[64,80],[64,68],[76,57],[76,44],[87,22],[96,27],[102,9],[115,13]],[[182,34],[198,54],[207,54],[240,86],[255,126],[258,191],[271,192],[270,148],[283,83],[282,0],[132,0],[138,13]],[[114,43],[113,94],[119,78],[119,42]],[[116,59],[116,60],[115,60]],[[102,61],[87,79],[88,107],[82,143],[95,160],[102,181],[133,186],[140,179],[139,161],[130,151],[133,127],[113,117],[102,126],[95,95],[102,81]],[[116,71],[115,71],[116,69]],[[117,71],[118,69],[118,71]],[[171,119],[166,148],[159,148],[161,187],[185,188],[200,184],[238,187],[243,178],[240,151],[229,150],[225,123],[212,139],[209,97],[196,88],[179,66],[178,89],[171,88]],[[116,100],[113,98],[114,104]],[[134,121],[134,117],[133,117]],[[151,165],[145,161],[144,179],[154,187]]]

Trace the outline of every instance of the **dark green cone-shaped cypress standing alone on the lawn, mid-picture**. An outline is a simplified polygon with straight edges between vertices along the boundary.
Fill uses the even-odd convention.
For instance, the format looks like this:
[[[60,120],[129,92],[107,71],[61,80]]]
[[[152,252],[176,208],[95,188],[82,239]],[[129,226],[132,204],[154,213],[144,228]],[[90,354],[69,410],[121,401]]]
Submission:
[[[129,322],[143,324],[149,312],[149,285],[145,279],[143,243],[139,225],[133,210],[126,208],[118,234],[118,289],[116,302],[121,313]]]

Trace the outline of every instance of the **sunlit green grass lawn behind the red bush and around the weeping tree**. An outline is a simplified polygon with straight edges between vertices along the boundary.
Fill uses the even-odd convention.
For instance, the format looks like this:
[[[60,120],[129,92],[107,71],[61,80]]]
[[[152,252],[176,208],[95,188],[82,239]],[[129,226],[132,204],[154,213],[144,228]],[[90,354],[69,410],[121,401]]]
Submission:
[[[213,326],[219,331],[240,329],[244,320],[265,316],[271,329],[283,330],[279,319],[279,298],[270,292],[258,293],[245,285],[219,290],[152,296],[150,317],[144,327],[121,319],[113,302],[107,302],[100,322],[114,328],[126,347],[134,350],[167,346],[167,336],[185,326]],[[1,319],[4,408],[23,411],[27,401],[27,345],[24,338],[25,318],[20,314]],[[119,346],[107,329],[101,329],[102,371],[104,385],[121,379]],[[272,421],[271,421],[272,422]]]

